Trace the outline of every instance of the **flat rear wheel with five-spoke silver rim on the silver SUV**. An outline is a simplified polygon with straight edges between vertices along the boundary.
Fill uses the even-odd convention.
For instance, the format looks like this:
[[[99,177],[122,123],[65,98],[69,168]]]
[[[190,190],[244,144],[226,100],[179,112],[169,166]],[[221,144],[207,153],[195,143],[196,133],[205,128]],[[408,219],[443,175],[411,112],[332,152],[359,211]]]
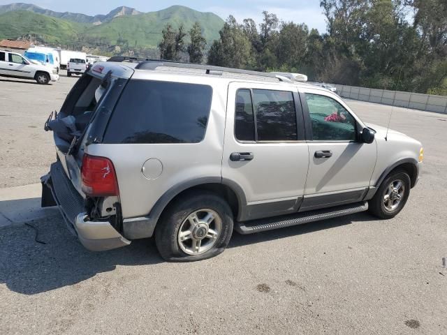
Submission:
[[[157,224],[155,243],[168,261],[193,262],[222,253],[233,233],[233,212],[219,195],[193,191],[175,200]]]

